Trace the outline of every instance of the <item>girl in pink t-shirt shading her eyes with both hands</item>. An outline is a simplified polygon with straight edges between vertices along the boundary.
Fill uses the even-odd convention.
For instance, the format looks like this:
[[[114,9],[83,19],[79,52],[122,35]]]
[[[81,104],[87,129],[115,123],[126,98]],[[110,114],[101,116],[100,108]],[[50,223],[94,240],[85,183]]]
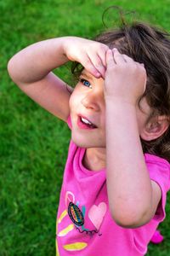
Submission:
[[[67,61],[74,90],[52,73]],[[168,35],[133,23],[95,41],[53,38],[14,55],[8,73],[71,128],[57,255],[144,255],[170,186]]]

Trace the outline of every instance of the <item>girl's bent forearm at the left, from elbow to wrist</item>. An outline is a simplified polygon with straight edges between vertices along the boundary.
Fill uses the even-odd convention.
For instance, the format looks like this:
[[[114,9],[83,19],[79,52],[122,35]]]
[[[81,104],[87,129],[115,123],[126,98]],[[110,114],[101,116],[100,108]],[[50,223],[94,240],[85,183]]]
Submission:
[[[65,56],[65,38],[48,39],[22,49],[8,62],[8,72],[17,83],[43,79],[51,70],[69,61]]]

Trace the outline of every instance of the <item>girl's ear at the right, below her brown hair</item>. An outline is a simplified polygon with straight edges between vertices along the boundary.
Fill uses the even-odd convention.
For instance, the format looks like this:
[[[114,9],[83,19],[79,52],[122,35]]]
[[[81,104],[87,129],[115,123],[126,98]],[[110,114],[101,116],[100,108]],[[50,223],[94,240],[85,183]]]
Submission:
[[[152,141],[167,131],[169,120],[167,116],[160,115],[149,119],[144,129],[140,132],[140,137],[144,141]]]

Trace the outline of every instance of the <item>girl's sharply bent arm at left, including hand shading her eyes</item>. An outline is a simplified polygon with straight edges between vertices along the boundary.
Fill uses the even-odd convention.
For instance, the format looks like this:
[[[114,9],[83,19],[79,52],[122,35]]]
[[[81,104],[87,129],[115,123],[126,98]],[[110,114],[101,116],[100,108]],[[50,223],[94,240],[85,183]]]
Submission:
[[[42,108],[66,120],[71,94],[65,82],[51,71],[67,61],[78,61],[90,73],[99,77],[104,75],[102,60],[105,60],[106,49],[104,44],[83,38],[48,39],[32,44],[14,55],[8,62],[8,73],[14,83]],[[100,58],[98,52],[101,52]]]

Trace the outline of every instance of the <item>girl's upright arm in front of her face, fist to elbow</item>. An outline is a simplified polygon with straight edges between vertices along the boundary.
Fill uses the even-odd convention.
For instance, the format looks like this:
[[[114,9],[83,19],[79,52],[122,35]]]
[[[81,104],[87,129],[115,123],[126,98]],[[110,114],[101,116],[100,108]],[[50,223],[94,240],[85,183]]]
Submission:
[[[161,189],[150,181],[139,139],[136,108],[145,89],[145,70],[135,61],[123,62],[121,58],[115,51],[113,60],[112,53],[107,52],[107,189],[116,223],[135,228],[154,216]]]

